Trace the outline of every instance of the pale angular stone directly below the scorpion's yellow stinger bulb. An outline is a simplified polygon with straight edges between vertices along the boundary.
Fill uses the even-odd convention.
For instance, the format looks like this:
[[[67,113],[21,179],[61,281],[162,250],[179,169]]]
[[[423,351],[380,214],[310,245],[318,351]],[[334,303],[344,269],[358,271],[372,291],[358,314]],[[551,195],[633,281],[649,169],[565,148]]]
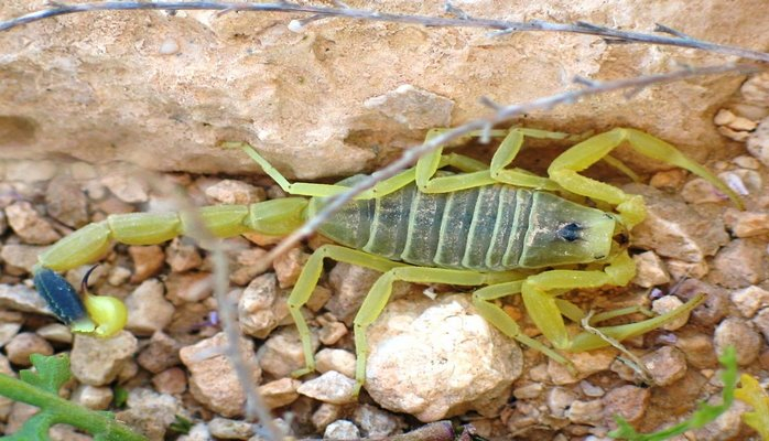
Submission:
[[[107,385],[132,361],[137,348],[137,337],[127,331],[109,338],[76,335],[69,355],[72,374],[86,385]]]

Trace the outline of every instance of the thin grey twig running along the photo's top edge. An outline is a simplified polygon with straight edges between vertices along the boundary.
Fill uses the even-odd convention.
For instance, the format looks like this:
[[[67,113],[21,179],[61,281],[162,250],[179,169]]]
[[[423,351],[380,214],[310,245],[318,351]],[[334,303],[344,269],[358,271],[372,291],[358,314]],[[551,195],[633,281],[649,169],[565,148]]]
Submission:
[[[450,3],[451,4],[451,3]],[[658,24],[657,30],[667,35],[646,34],[641,32],[620,31],[617,29],[599,26],[585,22],[577,23],[554,23],[542,20],[531,21],[507,21],[494,19],[478,18],[457,18],[457,17],[430,17],[430,15],[410,15],[377,12],[365,9],[354,8],[328,8],[305,6],[292,2],[274,2],[274,3],[242,3],[229,1],[155,1],[155,2],[139,2],[139,1],[104,1],[79,4],[62,4],[55,3],[48,9],[30,12],[28,14],[17,17],[7,21],[0,21],[0,31],[7,31],[22,24],[32,23],[35,21],[50,19],[52,17],[66,15],[78,12],[94,11],[133,11],[133,10],[213,10],[213,11],[241,11],[241,12],[300,12],[324,18],[344,18],[353,20],[368,20],[391,23],[421,24],[424,26],[441,26],[441,28],[480,28],[492,29],[498,32],[495,35],[509,34],[512,32],[523,31],[543,31],[543,32],[568,32],[577,34],[597,35],[610,42],[633,42],[659,44],[669,46],[691,47],[707,52],[714,52],[725,55],[735,55],[749,60],[769,62],[769,53],[750,51],[743,47],[730,46],[725,44],[711,43],[693,39],[689,35],[681,34],[671,28]]]

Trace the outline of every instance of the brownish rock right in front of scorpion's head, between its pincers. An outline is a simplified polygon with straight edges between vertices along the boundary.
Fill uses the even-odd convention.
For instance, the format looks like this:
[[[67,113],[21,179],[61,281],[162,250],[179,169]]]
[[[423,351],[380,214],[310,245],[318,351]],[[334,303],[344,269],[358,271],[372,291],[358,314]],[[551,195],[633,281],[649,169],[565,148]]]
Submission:
[[[624,190],[642,195],[648,209],[646,220],[632,229],[633,246],[698,262],[728,240],[719,220],[700,215],[678,197],[640,184],[625,185]]]

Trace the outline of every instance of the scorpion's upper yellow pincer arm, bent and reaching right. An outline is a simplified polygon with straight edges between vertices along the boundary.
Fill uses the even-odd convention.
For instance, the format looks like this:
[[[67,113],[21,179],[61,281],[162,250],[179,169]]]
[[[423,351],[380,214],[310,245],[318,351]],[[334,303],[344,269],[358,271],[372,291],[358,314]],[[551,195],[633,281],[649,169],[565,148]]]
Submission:
[[[632,227],[643,220],[646,216],[643,200],[640,196],[628,195],[613,185],[578,174],[625,141],[628,141],[630,147],[643,155],[680,166],[705,179],[726,194],[737,206],[743,206],[739,196],[707,169],[686,158],[675,147],[635,129],[609,130],[573,146],[550,164],[548,174],[550,179],[572,193],[616,205],[625,225]]]

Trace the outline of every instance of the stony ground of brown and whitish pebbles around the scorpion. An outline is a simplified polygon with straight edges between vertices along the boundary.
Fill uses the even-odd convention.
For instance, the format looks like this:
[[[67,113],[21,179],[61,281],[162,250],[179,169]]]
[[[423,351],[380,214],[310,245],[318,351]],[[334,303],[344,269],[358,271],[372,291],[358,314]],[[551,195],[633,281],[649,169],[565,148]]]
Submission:
[[[651,378],[641,378],[616,349],[571,355],[572,376],[490,329],[466,294],[447,287],[401,284],[369,332],[366,392],[353,396],[355,352],[350,323],[377,275],[348,265],[328,267],[305,309],[313,329],[317,374],[293,379],[303,365],[285,305],[314,237],[262,271],[273,239],[225,240],[231,298],[243,336],[241,352],[267,405],[294,435],[381,438],[426,421],[454,418],[478,434],[505,439],[603,439],[621,415],[650,431],[685,418],[695,404],[717,400],[716,355],[735,345],[744,372],[769,381],[769,76],[756,77],[715,118],[724,136],[746,143],[728,161],[708,163],[744,200],[736,209],[701,179],[671,170],[626,190],[643,194],[648,220],[633,230],[639,275],[621,289],[574,292],[585,310],[629,305],[664,312],[706,293],[689,318],[626,342]],[[760,125],[758,125],[760,122]],[[758,125],[758,126],[757,126]],[[36,256],[73,227],[112,213],[160,209],[173,197],[141,176],[115,168],[53,161],[7,161],[0,184],[0,367],[14,373],[32,353],[69,352],[75,380],[66,394],[93,409],[109,409],[115,388],[129,391],[118,418],[150,439],[175,439],[175,416],[195,426],[180,440],[261,439],[241,420],[243,389],[217,348],[223,346],[212,297],[210,255],[185,238],[160,246],[116,245],[90,278],[91,290],[123,298],[127,330],[104,341],[69,334],[31,287]],[[249,204],[281,197],[269,180],[172,174],[197,204]],[[86,268],[67,272],[79,284]],[[436,295],[437,294],[437,295]],[[506,311],[537,335],[518,299]],[[641,320],[642,316],[631,316]],[[746,439],[737,404],[687,439]],[[0,399],[7,433],[34,411]],[[56,439],[84,437],[62,428]],[[212,438],[214,437],[214,438]]]

